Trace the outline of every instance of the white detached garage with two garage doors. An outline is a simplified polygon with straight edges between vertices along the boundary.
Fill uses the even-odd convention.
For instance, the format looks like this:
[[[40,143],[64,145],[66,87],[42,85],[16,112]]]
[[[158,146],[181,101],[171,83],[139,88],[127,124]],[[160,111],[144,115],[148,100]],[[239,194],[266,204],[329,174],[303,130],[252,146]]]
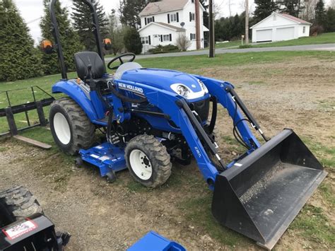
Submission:
[[[286,13],[272,13],[251,27],[252,42],[283,41],[308,37],[310,36],[310,25],[312,23]]]

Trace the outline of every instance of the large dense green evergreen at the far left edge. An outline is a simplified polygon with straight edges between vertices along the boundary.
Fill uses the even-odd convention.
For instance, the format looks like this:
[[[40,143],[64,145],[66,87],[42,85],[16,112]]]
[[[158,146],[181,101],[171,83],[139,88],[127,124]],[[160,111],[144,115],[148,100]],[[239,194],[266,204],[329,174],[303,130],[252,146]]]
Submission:
[[[12,0],[0,1],[0,81],[40,76],[40,53]]]

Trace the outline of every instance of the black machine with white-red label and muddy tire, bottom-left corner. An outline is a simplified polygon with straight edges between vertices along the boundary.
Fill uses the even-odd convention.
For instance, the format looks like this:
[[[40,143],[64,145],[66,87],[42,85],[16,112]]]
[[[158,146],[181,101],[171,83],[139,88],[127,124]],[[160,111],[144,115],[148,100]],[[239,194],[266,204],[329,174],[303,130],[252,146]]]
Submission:
[[[62,251],[69,233],[56,233],[37,199],[25,187],[0,191],[0,250]]]

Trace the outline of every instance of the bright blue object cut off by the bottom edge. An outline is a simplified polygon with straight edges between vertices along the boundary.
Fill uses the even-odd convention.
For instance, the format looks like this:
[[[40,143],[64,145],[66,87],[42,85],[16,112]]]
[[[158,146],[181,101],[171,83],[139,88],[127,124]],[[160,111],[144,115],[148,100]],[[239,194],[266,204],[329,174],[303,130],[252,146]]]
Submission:
[[[137,243],[129,247],[128,251],[185,251],[182,245],[171,241],[154,231],[150,231]]]

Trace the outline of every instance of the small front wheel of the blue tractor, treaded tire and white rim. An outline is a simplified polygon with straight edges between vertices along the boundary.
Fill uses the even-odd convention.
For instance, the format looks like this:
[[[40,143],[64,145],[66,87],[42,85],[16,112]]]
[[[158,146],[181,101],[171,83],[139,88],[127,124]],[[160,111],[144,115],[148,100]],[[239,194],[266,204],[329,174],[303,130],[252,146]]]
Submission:
[[[171,175],[170,155],[154,136],[143,134],[131,139],[125,157],[131,175],[146,187],[159,187]]]

